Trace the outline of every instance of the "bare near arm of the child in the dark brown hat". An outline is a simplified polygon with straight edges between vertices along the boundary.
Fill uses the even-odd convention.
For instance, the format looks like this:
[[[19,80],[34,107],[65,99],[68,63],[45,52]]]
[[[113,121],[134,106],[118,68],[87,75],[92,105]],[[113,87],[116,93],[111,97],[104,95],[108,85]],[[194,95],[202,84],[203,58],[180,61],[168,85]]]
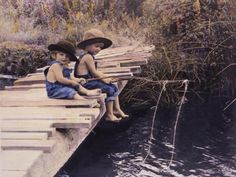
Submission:
[[[72,86],[78,85],[76,81],[67,79],[63,76],[62,68],[59,64],[57,63],[53,64],[50,69],[52,69],[54,76],[58,82],[65,85],[72,85]]]

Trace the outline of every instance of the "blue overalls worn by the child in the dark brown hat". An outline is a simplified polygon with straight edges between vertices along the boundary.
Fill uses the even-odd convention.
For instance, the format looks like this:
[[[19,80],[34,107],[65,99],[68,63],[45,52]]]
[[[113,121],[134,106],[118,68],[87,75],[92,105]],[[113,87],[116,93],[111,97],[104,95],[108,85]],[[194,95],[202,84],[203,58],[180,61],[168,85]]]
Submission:
[[[52,66],[55,63],[59,63],[61,65],[60,62],[54,60],[50,63],[50,66]],[[48,69],[49,67],[44,71],[45,77],[47,76]],[[69,68],[63,67],[62,72],[65,78],[70,79],[71,70]],[[72,99],[74,95],[77,94],[77,91],[72,86],[64,85],[57,81],[54,83],[49,82],[47,80],[47,77],[46,77],[46,90],[49,98]]]

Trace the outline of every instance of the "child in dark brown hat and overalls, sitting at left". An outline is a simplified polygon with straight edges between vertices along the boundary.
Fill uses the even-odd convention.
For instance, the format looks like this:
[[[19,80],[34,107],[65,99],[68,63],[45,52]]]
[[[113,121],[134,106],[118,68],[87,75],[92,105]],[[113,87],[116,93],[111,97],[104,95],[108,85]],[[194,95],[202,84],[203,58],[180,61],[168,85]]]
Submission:
[[[45,71],[46,90],[49,98],[57,99],[85,99],[79,93],[95,96],[100,94],[99,89],[87,90],[80,85],[85,82],[82,78],[74,78],[68,67],[70,61],[76,61],[75,47],[66,40],[59,41],[56,44],[50,44],[48,50],[51,51],[51,57],[54,59]],[[76,91],[78,90],[78,92]]]

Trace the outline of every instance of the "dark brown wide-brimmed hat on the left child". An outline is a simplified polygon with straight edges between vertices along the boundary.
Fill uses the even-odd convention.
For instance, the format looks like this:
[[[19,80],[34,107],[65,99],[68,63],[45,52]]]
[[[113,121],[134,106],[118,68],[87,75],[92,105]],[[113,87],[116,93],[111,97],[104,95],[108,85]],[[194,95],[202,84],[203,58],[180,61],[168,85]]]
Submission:
[[[48,46],[48,50],[66,53],[69,56],[70,61],[77,60],[77,57],[75,56],[76,54],[75,46],[69,41],[61,40],[56,44],[50,44]]]

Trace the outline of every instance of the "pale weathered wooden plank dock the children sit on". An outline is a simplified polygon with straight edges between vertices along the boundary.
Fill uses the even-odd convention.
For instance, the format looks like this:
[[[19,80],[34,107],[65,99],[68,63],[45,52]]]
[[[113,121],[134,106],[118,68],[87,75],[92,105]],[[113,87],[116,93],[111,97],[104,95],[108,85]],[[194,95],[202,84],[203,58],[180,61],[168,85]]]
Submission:
[[[147,64],[151,50],[140,46],[103,50],[97,55],[98,69],[111,77],[133,76]],[[1,177],[54,176],[106,111],[105,94],[87,100],[49,99],[43,70],[0,91]],[[119,81],[119,89],[127,82]],[[100,108],[95,108],[97,102]]]

